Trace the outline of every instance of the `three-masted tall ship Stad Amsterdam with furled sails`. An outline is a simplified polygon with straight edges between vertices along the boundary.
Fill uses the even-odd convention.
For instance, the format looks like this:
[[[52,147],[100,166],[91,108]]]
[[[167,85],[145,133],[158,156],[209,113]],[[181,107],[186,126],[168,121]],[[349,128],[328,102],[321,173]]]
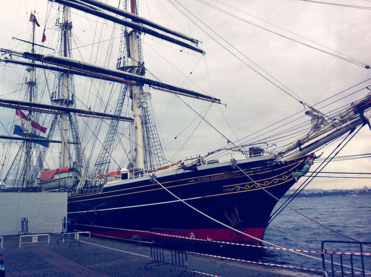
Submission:
[[[219,98],[163,81],[144,62],[144,37],[203,59],[205,51],[198,39],[139,16],[136,0],[120,0],[115,6],[98,0],[46,2],[45,27],[40,27],[40,17],[37,21],[33,11],[30,37],[14,37],[20,41],[17,49],[1,48],[2,65],[26,70],[21,89],[10,94],[18,98],[3,93],[0,99],[0,107],[11,114],[2,126],[12,129],[0,139],[16,141],[8,147],[13,156],[5,154],[3,144],[1,187],[67,191],[68,218],[77,220],[81,231],[146,239],[148,234],[141,231],[168,228],[203,240],[258,244],[256,238],[263,239],[276,204],[295,183],[301,183],[302,176],[308,176],[311,165],[321,157],[321,148],[348,141],[363,126],[370,127],[371,93],[364,86],[359,90],[361,97],[328,113],[291,95],[308,118],[303,123],[291,129],[284,124],[266,137],[233,141],[206,117],[210,109],[226,106],[230,92],[215,91]],[[76,22],[72,14],[80,15]],[[102,27],[87,36],[82,20]],[[43,29],[42,34],[37,28]],[[73,34],[76,28],[77,36]],[[85,42],[91,37],[92,42]],[[114,38],[119,38],[118,48]],[[82,40],[85,46],[77,46]],[[166,61],[156,64],[161,68],[167,66]],[[158,116],[154,93],[173,97],[168,106],[176,100],[179,107],[189,109],[191,123],[187,126],[177,114],[165,116],[164,106]],[[247,106],[254,103],[237,101],[246,101]],[[191,106],[195,102],[197,108]],[[260,112],[254,117],[265,116],[265,111]],[[166,124],[178,135],[161,133],[159,117],[167,117]],[[247,129],[248,122],[255,120],[237,113],[236,117],[247,122]],[[195,130],[201,122],[208,126],[203,144],[214,145],[214,135],[227,144],[174,158],[194,130],[169,157],[161,141],[169,136],[174,137],[171,142],[177,140],[194,122]]]

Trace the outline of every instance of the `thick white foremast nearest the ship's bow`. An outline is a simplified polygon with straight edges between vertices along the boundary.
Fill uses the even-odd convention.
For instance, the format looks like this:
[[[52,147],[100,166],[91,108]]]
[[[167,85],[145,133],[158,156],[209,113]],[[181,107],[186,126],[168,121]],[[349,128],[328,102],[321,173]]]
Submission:
[[[135,0],[130,0],[131,13],[137,14]],[[139,75],[142,70],[139,65],[138,51],[138,31],[132,30],[129,33],[130,53],[128,55],[131,71],[130,73]],[[134,135],[135,135],[135,167],[144,168],[144,144],[143,144],[143,125],[142,125],[142,106],[147,104],[147,96],[139,91],[139,86],[131,86],[132,110],[134,116]]]

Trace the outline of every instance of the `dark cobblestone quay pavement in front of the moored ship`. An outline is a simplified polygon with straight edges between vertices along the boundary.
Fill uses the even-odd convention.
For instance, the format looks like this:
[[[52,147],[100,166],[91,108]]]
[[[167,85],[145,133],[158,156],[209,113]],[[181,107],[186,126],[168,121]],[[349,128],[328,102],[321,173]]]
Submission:
[[[0,254],[5,258],[6,276],[14,277],[173,277],[184,270],[182,267],[150,263],[149,257],[109,249],[151,256],[148,246],[135,246],[121,241],[91,238],[91,243],[109,247],[103,248],[88,244],[87,237],[80,237],[81,246],[70,241],[62,244],[59,235],[50,234],[50,245],[46,242],[22,244],[19,236],[4,236],[4,249]],[[42,238],[45,239],[45,238]],[[41,240],[41,238],[39,238]],[[24,240],[27,241],[27,240]],[[23,241],[22,241],[23,242]],[[311,272],[289,270],[228,261],[218,258],[188,254],[188,267],[191,270],[229,277],[307,277],[321,276]],[[199,273],[185,272],[182,277],[204,276]]]

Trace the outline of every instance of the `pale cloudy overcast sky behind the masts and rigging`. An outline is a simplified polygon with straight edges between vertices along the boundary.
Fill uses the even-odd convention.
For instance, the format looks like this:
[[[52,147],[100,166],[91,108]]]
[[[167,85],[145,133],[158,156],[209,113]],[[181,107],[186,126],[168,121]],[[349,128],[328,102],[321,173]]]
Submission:
[[[116,6],[118,1],[106,2]],[[192,105],[198,113],[208,110],[205,119],[228,140],[237,141],[247,136],[248,139],[253,139],[256,132],[279,120],[299,112],[300,115],[304,115],[302,104],[261,75],[286,91],[291,91],[291,95],[296,95],[296,98],[313,105],[323,113],[349,104],[368,93],[367,89],[360,89],[371,86],[371,80],[368,80],[371,78],[371,69],[367,70],[314,48],[342,57],[345,55],[370,65],[369,9],[300,0],[230,0],[227,1],[227,5],[222,2],[224,1],[140,1],[139,15],[202,41],[199,46],[206,52],[205,56],[188,50],[180,51],[181,47],[171,47],[170,43],[165,41],[153,39],[148,35],[142,36],[147,76],[202,90],[221,99],[227,104],[226,107],[214,104],[209,109],[209,104],[205,102],[189,99],[184,101]],[[336,0],[336,3],[371,7],[371,2],[365,0]],[[3,4],[9,9],[1,11],[0,24],[4,26],[1,48],[23,50],[24,45],[12,40],[12,37],[24,40],[29,38],[31,24],[28,18],[32,10],[37,11],[36,17],[41,25],[36,30],[36,41],[41,40],[43,28],[46,26],[47,40],[44,45],[48,47],[56,45],[57,39],[53,37],[52,26],[56,21],[53,16],[57,13],[55,8],[46,13],[47,8],[50,9],[46,0],[17,2],[5,0]],[[211,5],[219,7],[223,12],[213,9]],[[174,6],[182,9],[188,17],[181,14]],[[53,7],[56,5],[53,4]],[[95,21],[98,23],[96,24]],[[76,46],[73,55],[76,59],[83,57],[86,61],[106,64],[114,68],[119,46],[119,28],[114,29],[115,32],[112,33],[110,28],[112,24],[102,25],[101,22],[103,20],[97,20],[96,17],[72,11],[75,32],[72,46]],[[109,52],[111,48],[108,41],[111,35],[116,38],[113,42],[114,46],[111,47],[112,54]],[[104,42],[98,43],[99,41]],[[101,46],[99,49],[98,45]],[[9,78],[9,70],[6,70],[3,66],[0,67],[1,97],[12,95],[7,93],[16,91],[19,82]],[[14,73],[22,77],[23,73],[19,72],[14,70]],[[355,86],[359,83],[362,84]],[[355,87],[349,89],[353,86]],[[344,90],[347,91],[316,106],[317,103]],[[358,90],[360,91],[356,92]],[[81,102],[81,107],[89,107],[89,105],[94,107],[95,94],[102,93],[100,95],[105,99],[109,98],[109,91],[105,87],[87,84],[83,80],[76,80],[76,91],[84,91],[82,94],[76,93],[78,96],[76,101]],[[206,122],[200,121],[200,118],[178,98],[158,91],[151,91],[151,93],[162,145],[166,148],[165,153],[168,157],[204,153],[226,146],[226,139]],[[354,94],[341,99],[351,93]],[[326,106],[335,100],[339,101]],[[309,120],[309,118],[302,118],[289,123],[296,118],[299,118],[299,115],[282,121],[281,125],[293,126]],[[9,123],[6,119],[1,121],[4,125]],[[189,124],[190,126],[187,127]],[[273,129],[274,127],[269,127],[265,131]],[[188,136],[194,130],[196,131],[188,140]],[[3,130],[0,133],[3,134]],[[365,126],[338,155],[371,153],[370,134],[371,131]],[[104,140],[103,134],[99,136]],[[174,140],[174,137],[177,139]],[[336,143],[321,150],[324,151],[324,157],[332,152],[335,145]],[[183,149],[178,153],[181,147]],[[96,154],[94,153],[93,156]],[[122,150],[118,149],[115,157],[120,155]],[[315,167],[316,164],[311,169]],[[334,161],[323,171],[336,172],[332,175],[336,177],[368,177],[370,175],[340,174],[340,172],[370,173],[370,168],[371,158],[362,158]],[[329,175],[323,174],[323,176]],[[363,186],[371,187],[370,179],[318,177],[307,188]]]

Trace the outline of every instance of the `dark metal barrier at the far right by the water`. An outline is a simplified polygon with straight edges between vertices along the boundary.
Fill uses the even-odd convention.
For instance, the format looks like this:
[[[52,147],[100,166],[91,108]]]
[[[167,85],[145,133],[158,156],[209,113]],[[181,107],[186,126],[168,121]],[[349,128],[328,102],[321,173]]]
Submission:
[[[349,252],[342,252],[342,251],[327,251],[325,249],[324,244],[326,243],[326,247],[344,247],[348,246],[350,248],[351,246],[358,245],[359,248],[355,251],[349,251]],[[322,266],[324,270],[324,277],[327,277],[328,274],[326,272],[331,272],[332,277],[335,276],[344,276],[344,273],[352,274],[352,276],[363,276],[365,277],[365,261],[364,259],[371,258],[371,255],[369,253],[364,253],[364,246],[370,246],[371,242],[366,241],[341,241],[341,240],[324,240],[322,241],[321,247],[322,247]],[[359,252],[358,252],[359,250]],[[331,258],[331,271],[326,270],[325,268],[325,256],[330,256]],[[370,265],[371,259],[368,261],[369,263],[367,265]],[[336,270],[335,266],[340,265],[340,270]],[[346,267],[345,265],[350,264],[350,268]],[[350,271],[349,271],[350,269]],[[337,273],[337,275],[335,275]],[[367,274],[368,275],[368,274]]]

